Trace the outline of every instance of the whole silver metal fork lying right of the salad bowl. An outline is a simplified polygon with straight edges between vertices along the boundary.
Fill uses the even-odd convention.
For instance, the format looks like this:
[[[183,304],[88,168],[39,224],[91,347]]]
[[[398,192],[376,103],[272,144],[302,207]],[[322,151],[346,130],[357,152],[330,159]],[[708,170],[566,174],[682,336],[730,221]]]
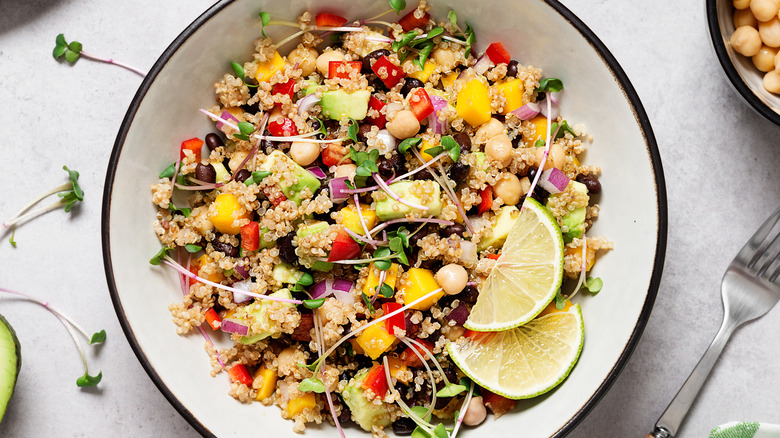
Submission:
[[[688,380],[674,396],[655,429],[645,438],[672,438],[707,380],[731,334],[740,325],[774,307],[780,298],[780,209],[774,212],[748,240],[723,275],[723,323]]]

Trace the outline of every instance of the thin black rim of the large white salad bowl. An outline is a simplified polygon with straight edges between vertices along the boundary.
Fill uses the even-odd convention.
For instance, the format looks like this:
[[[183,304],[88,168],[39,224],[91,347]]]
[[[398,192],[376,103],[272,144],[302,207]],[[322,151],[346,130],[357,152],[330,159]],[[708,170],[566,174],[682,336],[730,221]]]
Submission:
[[[176,398],[176,396],[174,396],[171,390],[168,389],[168,387],[165,385],[165,382],[163,382],[162,378],[157,374],[157,372],[152,367],[147,357],[144,355],[143,350],[141,349],[140,345],[138,344],[138,341],[135,338],[133,329],[132,327],[130,327],[130,324],[122,308],[122,302],[119,298],[116,282],[114,279],[113,266],[111,263],[109,224],[111,219],[110,217],[111,195],[112,195],[112,189],[114,184],[114,178],[116,176],[116,166],[118,163],[119,155],[122,151],[122,146],[124,145],[124,141],[127,136],[128,130],[130,128],[130,125],[132,124],[132,121],[135,117],[138,107],[143,101],[146,92],[149,90],[149,87],[154,82],[155,78],[159,74],[160,70],[162,70],[165,63],[179,49],[179,47],[193,33],[195,33],[195,31],[197,31],[197,29],[200,28],[205,22],[207,22],[211,17],[216,15],[219,11],[221,11],[223,8],[225,8],[233,1],[234,0],[222,0],[219,3],[213,5],[211,8],[209,8],[197,19],[195,19],[195,21],[193,21],[189,26],[187,26],[187,28],[179,36],[177,36],[176,39],[173,40],[173,42],[168,46],[168,48],[165,49],[165,51],[162,53],[162,55],[157,60],[157,62],[155,62],[152,69],[146,75],[143,82],[141,83],[141,86],[139,87],[138,91],[133,97],[133,101],[131,102],[130,107],[127,110],[127,113],[125,114],[124,119],[122,120],[122,125],[119,129],[119,133],[117,135],[116,141],[114,142],[114,148],[111,152],[111,157],[109,159],[108,171],[106,174],[106,182],[103,189],[103,211],[102,211],[102,224],[101,224],[101,239],[103,244],[103,265],[106,271],[106,280],[108,282],[108,289],[111,294],[111,300],[113,301],[114,310],[116,311],[117,317],[119,318],[119,323],[122,326],[122,330],[124,331],[125,336],[127,337],[127,340],[133,349],[133,352],[135,353],[139,362],[141,362],[141,365],[143,366],[146,373],[149,375],[149,377],[152,379],[154,384],[160,390],[160,392],[165,396],[166,399],[168,399],[171,405],[179,412],[179,414],[182,415],[182,417],[184,417],[190,423],[190,425],[195,430],[197,430],[201,435],[207,437],[213,437],[215,435],[210,430],[208,430],[197,418],[195,418],[195,416],[189,410],[187,410],[187,408]],[[642,134],[645,138],[648,154],[650,156],[650,160],[652,163],[653,176],[655,178],[655,185],[656,185],[656,205],[658,208],[658,231],[657,231],[656,253],[655,253],[654,263],[653,263],[653,273],[650,278],[650,284],[647,289],[647,295],[645,297],[645,302],[642,307],[642,312],[639,315],[639,319],[637,320],[637,323],[634,326],[634,330],[631,334],[631,337],[626,343],[626,347],[624,348],[623,352],[621,353],[620,357],[615,363],[615,366],[607,374],[607,377],[604,379],[601,385],[599,385],[596,392],[593,394],[593,396],[591,396],[590,399],[588,399],[588,401],[585,402],[585,404],[580,408],[580,410],[573,417],[571,417],[558,431],[556,431],[552,435],[552,437],[558,438],[558,437],[563,437],[567,435],[569,432],[571,432],[577,426],[577,424],[579,424],[580,421],[582,421],[582,419],[584,419],[585,416],[587,416],[587,414],[599,402],[599,400],[604,396],[604,394],[606,394],[606,392],[615,382],[618,375],[620,374],[620,372],[623,370],[626,363],[628,362],[631,353],[634,351],[634,348],[639,342],[639,338],[641,337],[642,332],[644,331],[644,328],[647,325],[647,321],[650,318],[650,313],[653,309],[653,304],[655,302],[655,298],[658,293],[658,286],[661,281],[661,273],[663,270],[664,257],[666,254],[667,205],[666,205],[666,184],[664,182],[663,168],[661,166],[661,156],[658,152],[658,145],[655,141],[655,136],[653,135],[653,130],[652,127],[650,126],[650,120],[647,117],[647,113],[645,112],[644,107],[642,106],[642,103],[639,100],[639,96],[634,90],[634,87],[631,85],[628,76],[620,67],[617,60],[615,60],[615,57],[612,55],[609,49],[607,49],[604,43],[602,43],[601,40],[599,40],[599,38],[593,33],[593,31],[591,31],[585,25],[585,23],[583,23],[579,18],[577,18],[576,15],[574,15],[571,11],[569,11],[565,6],[560,4],[557,0],[544,0],[544,1],[553,9],[555,9],[555,11],[557,11],[564,19],[566,19],[569,23],[571,23],[575,27],[575,29],[577,29],[583,35],[583,37],[585,37],[585,39],[596,50],[599,56],[601,56],[601,58],[607,64],[609,69],[612,71],[612,74],[617,79],[618,84],[620,85],[626,97],[628,98],[632,110],[634,111],[634,116],[636,117],[637,123],[642,129]],[[709,1],[708,3],[714,3],[714,1]],[[710,21],[710,23],[712,23],[712,20]],[[736,74],[736,72],[734,73]]]

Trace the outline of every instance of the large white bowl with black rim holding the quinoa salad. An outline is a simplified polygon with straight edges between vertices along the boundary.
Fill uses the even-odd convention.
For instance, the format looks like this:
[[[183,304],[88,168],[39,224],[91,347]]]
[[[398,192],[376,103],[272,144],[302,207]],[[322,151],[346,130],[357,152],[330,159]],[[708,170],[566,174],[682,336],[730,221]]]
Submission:
[[[175,332],[168,305],[181,298],[174,272],[150,266],[160,244],[152,231],[149,185],[175,159],[182,138],[213,130],[198,108],[214,102],[212,84],[229,62],[247,59],[259,36],[257,14],[294,19],[319,9],[314,1],[221,1],[195,20],[163,53],[141,85],[122,124],[106,178],[103,249],[117,316],[138,359],[173,406],[206,436],[290,436],[292,423],[278,409],[243,405],[227,395],[228,378],[209,376],[199,334]],[[361,6],[358,6],[362,4]],[[411,4],[410,4],[411,6]],[[603,168],[601,217],[592,235],[609,237],[615,250],[593,272],[604,279],[597,296],[580,295],[585,347],[569,378],[555,391],[521,401],[499,421],[464,437],[563,436],[608,390],[625,365],[650,315],[666,242],[666,198],[650,123],[627,77],[596,36],[554,0],[436,1],[433,15],[453,8],[476,29],[481,51],[502,41],[521,64],[559,77],[566,89],[562,113],[593,134],[589,163]],[[373,16],[386,2],[331,0],[329,11],[350,19]],[[278,32],[278,33],[276,33]],[[286,35],[287,28],[269,33]],[[185,74],[186,73],[186,74]],[[367,436],[351,428],[350,436]],[[515,435],[515,433],[512,433]],[[309,437],[337,436],[329,426]]]

